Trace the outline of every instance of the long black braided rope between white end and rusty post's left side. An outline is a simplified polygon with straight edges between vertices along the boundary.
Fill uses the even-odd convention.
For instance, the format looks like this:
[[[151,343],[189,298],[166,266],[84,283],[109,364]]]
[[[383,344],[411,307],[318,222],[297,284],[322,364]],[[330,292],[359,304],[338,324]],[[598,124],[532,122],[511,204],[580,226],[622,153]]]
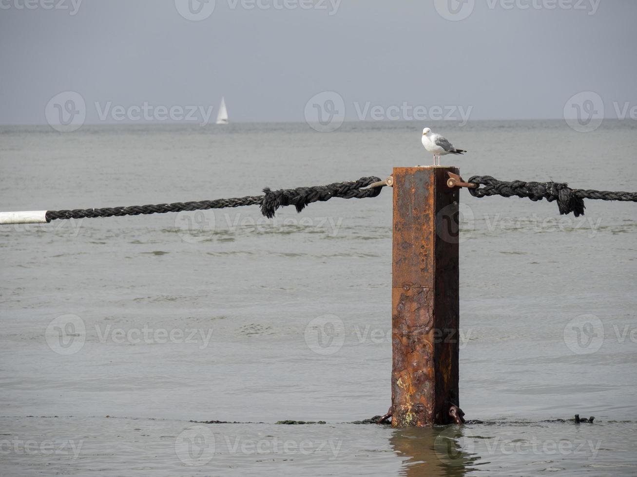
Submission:
[[[203,211],[206,209],[224,209],[243,205],[261,205],[261,212],[267,218],[273,218],[279,207],[294,205],[301,212],[312,202],[324,202],[333,197],[366,198],[376,197],[382,187],[364,189],[370,184],[380,182],[378,177],[361,177],[357,181],[340,182],[327,186],[299,187],[272,191],[263,190],[264,195],[241,198],[202,200],[201,202],[175,202],[174,204],[131,205],[131,207],[104,207],[103,209],[75,209],[73,211],[47,211],[47,222],[56,219],[84,219],[97,217],[138,216],[140,214],[164,214],[166,212]]]

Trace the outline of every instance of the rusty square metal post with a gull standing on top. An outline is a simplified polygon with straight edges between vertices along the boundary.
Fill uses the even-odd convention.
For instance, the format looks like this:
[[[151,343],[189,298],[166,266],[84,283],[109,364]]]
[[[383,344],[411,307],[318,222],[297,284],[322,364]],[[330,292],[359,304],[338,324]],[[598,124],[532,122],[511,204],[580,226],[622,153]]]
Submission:
[[[459,406],[456,167],[394,168],[392,426],[451,424]]]

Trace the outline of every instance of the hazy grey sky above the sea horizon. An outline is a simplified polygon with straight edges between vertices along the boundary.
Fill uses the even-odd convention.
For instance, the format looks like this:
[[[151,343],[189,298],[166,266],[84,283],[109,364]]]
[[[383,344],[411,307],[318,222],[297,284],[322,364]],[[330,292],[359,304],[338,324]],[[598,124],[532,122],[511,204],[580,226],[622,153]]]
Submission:
[[[634,0],[190,0],[199,21],[189,0],[78,1],[0,0],[0,123],[45,123],[66,91],[87,123],[144,102],[216,116],[222,95],[234,121],[303,121],[323,91],[347,120],[403,103],[562,118],[583,91],[606,117],[637,106]]]

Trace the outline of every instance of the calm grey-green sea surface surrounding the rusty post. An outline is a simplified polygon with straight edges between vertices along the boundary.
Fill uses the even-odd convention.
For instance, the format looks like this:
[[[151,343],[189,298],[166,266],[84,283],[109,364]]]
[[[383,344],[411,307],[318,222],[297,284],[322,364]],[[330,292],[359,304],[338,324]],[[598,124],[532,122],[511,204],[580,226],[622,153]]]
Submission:
[[[422,127],[3,127],[0,209],[384,178],[431,163]],[[630,121],[433,129],[468,149],[442,158],[465,179],[637,190]],[[390,404],[389,190],[274,221],[1,226],[0,474],[637,474],[637,206],[461,201],[460,405],[483,424],[417,430],[348,424]],[[576,413],[594,424],[550,422]]]

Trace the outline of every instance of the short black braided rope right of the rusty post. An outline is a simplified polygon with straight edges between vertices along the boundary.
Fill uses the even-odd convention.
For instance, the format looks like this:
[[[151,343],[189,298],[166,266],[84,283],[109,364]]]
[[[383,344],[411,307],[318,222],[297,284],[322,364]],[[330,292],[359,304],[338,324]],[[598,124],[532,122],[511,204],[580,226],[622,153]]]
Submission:
[[[469,193],[473,197],[485,197],[485,195],[501,195],[502,197],[528,197],[533,201],[545,198],[548,202],[557,201],[559,213],[569,214],[573,212],[575,217],[583,216],[583,199],[598,200],[622,200],[624,202],[637,202],[637,192],[612,192],[599,190],[571,189],[566,183],[555,182],[523,182],[523,181],[498,181],[491,176],[473,176],[469,183],[483,186],[470,188]]]

